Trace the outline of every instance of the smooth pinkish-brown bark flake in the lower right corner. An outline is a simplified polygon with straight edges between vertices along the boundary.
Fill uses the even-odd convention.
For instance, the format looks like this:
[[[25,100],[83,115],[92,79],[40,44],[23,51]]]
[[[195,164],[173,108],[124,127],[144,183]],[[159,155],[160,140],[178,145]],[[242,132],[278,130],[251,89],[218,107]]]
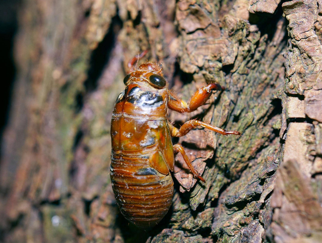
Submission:
[[[276,242],[320,240],[322,208],[316,201],[309,181],[294,159],[285,161],[279,169],[272,197],[272,228]]]

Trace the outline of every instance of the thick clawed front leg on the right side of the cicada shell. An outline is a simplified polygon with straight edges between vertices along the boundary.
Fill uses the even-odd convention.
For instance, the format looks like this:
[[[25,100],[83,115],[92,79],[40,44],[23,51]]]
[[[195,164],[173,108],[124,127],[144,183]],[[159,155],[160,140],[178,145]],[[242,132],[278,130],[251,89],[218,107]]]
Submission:
[[[180,113],[195,111],[198,107],[206,103],[211,96],[212,91],[224,89],[225,88],[216,83],[200,87],[191,97],[189,105],[185,101],[176,98],[176,96],[170,92],[169,108]]]

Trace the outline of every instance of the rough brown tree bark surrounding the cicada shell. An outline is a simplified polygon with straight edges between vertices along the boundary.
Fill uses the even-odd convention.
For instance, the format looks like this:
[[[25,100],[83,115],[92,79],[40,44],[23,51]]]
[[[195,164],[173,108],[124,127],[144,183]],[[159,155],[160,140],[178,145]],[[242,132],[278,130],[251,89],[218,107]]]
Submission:
[[[321,6],[25,0],[2,143],[0,240],[320,242]],[[175,124],[192,116],[243,132],[196,129],[179,139],[206,183],[178,156],[173,206],[151,231],[120,215],[109,177],[112,108],[126,62],[146,49],[186,101],[206,83],[226,87],[189,116],[171,113]]]

